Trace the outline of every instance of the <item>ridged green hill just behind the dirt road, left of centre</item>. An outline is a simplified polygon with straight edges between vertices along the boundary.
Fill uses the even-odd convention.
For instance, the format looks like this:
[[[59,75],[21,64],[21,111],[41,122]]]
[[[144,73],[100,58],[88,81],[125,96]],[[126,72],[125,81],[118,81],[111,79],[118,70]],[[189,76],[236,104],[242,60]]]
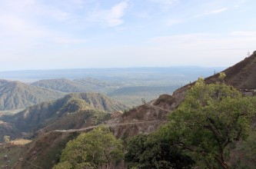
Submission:
[[[124,110],[123,104],[113,101],[104,94],[75,93],[68,94],[56,101],[43,102],[15,114],[12,120],[2,117],[3,121],[15,124],[19,131],[31,132],[46,128],[55,129],[79,128],[87,118],[95,118],[91,114],[101,114]],[[63,119],[62,119],[63,118]],[[101,115],[95,121],[101,121]],[[75,124],[77,122],[77,124]],[[54,126],[54,127],[53,127]],[[0,136],[1,137],[1,136]]]

